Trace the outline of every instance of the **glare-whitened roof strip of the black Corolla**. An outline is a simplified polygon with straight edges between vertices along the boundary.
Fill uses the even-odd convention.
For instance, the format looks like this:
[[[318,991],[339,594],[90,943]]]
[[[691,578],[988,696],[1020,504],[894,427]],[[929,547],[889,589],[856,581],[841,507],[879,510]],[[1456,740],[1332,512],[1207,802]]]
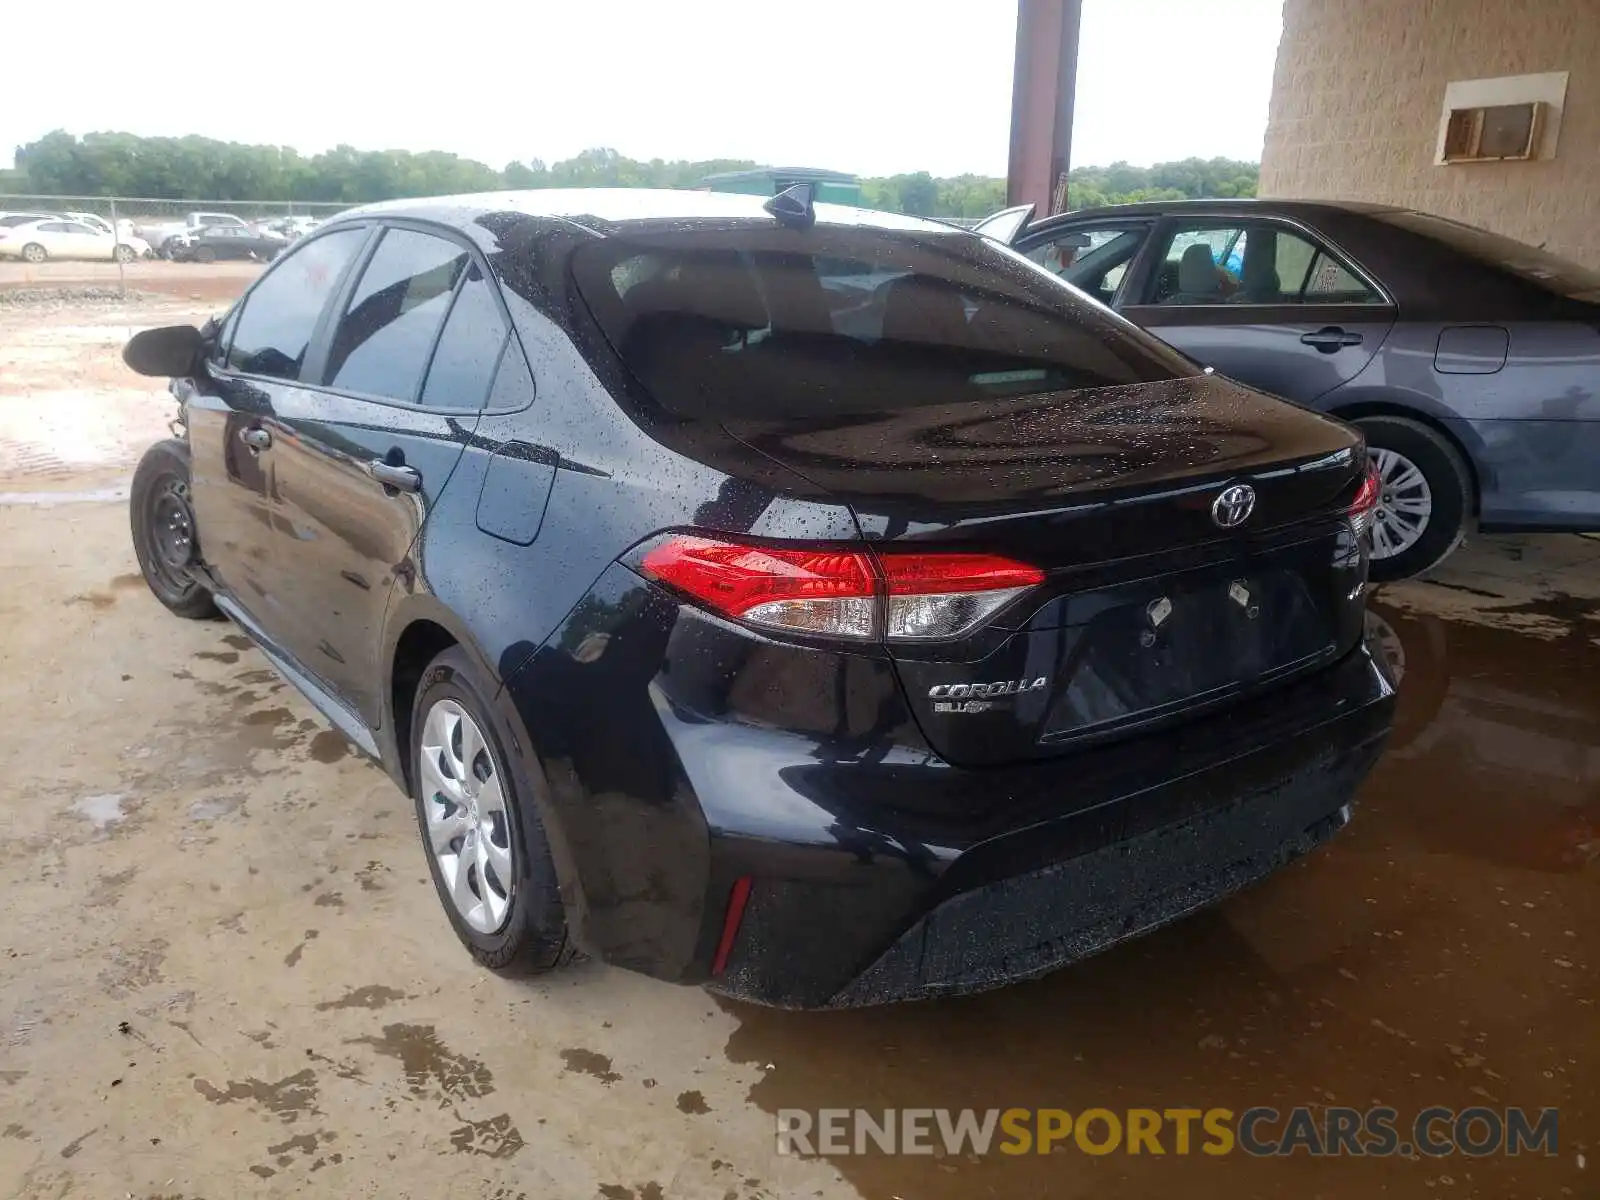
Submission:
[[[622,232],[629,224],[661,221],[715,222],[774,218],[762,208],[765,197],[734,192],[690,192],[650,187],[542,187],[525,192],[474,192],[416,200],[384,200],[339,213],[339,221],[371,216],[410,216],[466,227],[480,218],[507,213],[573,221],[597,232]],[[949,234],[950,226],[917,216],[878,213],[846,205],[816,205],[822,224],[866,226],[902,232]]]

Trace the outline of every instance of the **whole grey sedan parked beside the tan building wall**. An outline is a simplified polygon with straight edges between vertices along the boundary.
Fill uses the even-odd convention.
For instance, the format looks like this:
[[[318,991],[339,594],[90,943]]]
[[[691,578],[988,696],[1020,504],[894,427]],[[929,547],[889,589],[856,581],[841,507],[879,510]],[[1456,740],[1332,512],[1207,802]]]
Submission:
[[[1218,371],[1354,421],[1373,578],[1483,530],[1600,530],[1600,274],[1403,208],[1190,200],[994,229]]]

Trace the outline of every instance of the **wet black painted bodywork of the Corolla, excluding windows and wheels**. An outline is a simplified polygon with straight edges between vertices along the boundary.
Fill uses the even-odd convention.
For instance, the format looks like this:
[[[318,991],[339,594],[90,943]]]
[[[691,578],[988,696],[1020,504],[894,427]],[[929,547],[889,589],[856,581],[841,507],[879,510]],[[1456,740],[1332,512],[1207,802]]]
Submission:
[[[235,504],[254,502],[235,522],[254,541],[230,542],[227,525],[211,522],[206,494],[197,502],[200,539],[227,584],[224,611],[402,786],[421,669],[440,630],[464,646],[496,688],[502,741],[549,830],[568,925],[584,949],[658,978],[702,982],[715,973],[734,880],[755,878],[749,936],[733,947],[722,979],[728,990],[806,1006],[931,994],[944,984],[920,970],[907,976],[894,962],[898,939],[915,938],[917,922],[947,923],[954,907],[946,906],[994,899],[1011,875],[1050,883],[1056,859],[1090,875],[1102,861],[1096,854],[1115,858],[1107,846],[1152,835],[1162,822],[1173,827],[1149,854],[1160,866],[1146,872],[1165,890],[1150,890],[1136,917],[1042,928],[1018,947],[1032,958],[1014,970],[995,939],[981,970],[962,974],[963,989],[994,987],[1173,920],[1306,853],[1349,819],[1349,792],[1387,733],[1392,688],[1360,645],[1366,560],[1346,512],[1363,464],[1346,426],[1190,373],[1115,318],[1107,336],[1149,347],[1160,363],[1160,381],[1142,394],[1051,392],[1054,411],[1038,400],[962,411],[930,405],[878,414],[854,434],[850,422],[766,421],[755,430],[710,416],[677,419],[595,342],[594,322],[568,286],[563,250],[595,234],[558,216],[466,208],[475,216],[448,202],[438,213],[426,203],[389,216],[357,211],[278,264],[338,259],[326,272],[330,299],[318,301],[323,315],[301,350],[306,370],[323,378],[326,314],[342,310],[363,264],[381,253],[389,232],[379,227],[398,227],[475,243],[502,283],[514,330],[496,370],[525,362],[522,381],[501,397],[496,376],[478,419],[267,379],[269,365],[238,366],[230,346],[222,358],[235,365],[213,362],[189,402],[200,418],[197,456],[208,459],[197,488],[222,486]],[[763,216],[752,219],[758,206],[744,211],[766,227]],[[933,237],[954,242],[944,246],[950,253],[994,254],[942,227]],[[336,238],[346,240],[342,251]],[[525,253],[530,242],[541,243],[539,253]],[[995,256],[1040,286],[1032,269]],[[246,294],[246,320],[250,304]],[[1178,378],[1168,378],[1173,371]],[[1051,430],[1053,419],[1074,411],[1075,421]],[[240,450],[238,437],[258,429],[272,437],[259,459]],[[837,477],[797,450],[808,434],[827,440]],[[918,437],[944,445],[963,434],[982,445],[949,450],[934,470],[899,470],[896,459]],[[757,437],[771,445],[747,440]],[[1010,459],[998,474],[1003,490],[997,453]],[[216,459],[227,462],[227,483],[213,478]],[[379,462],[419,469],[418,490],[382,486],[370,470]],[[1256,485],[1259,518],[1222,531],[1211,501],[1232,478]],[[1077,485],[1086,485],[1082,496]],[[493,496],[518,499],[501,510]],[[1042,509],[1074,504],[1083,510],[1069,514],[1078,522],[1072,531],[1050,528]],[[646,584],[627,558],[629,547],[662,530],[835,542],[862,539],[862,525],[878,541],[938,534],[950,544],[987,538],[1002,550],[1014,542],[1018,554],[1070,550],[1072,562],[1048,562],[1067,573],[1115,560],[1122,578],[1090,570],[1040,589],[1032,600],[1054,618],[1024,606],[1014,619],[1027,627],[1002,622],[992,637],[986,630],[947,646],[946,682],[1013,677],[1008,659],[998,672],[994,661],[957,661],[957,651],[984,651],[986,638],[1003,643],[989,646],[1002,656],[1042,664],[1093,642],[1093,634],[1056,632],[1074,621],[1070,603],[1054,603],[1069,592],[1090,608],[1115,602],[1146,613],[1157,597],[1114,586],[1173,578],[1190,594],[1226,595],[1251,565],[1288,563],[1278,552],[1304,562],[1285,571],[1294,574],[1285,602],[1261,610],[1254,629],[1304,624],[1309,642],[1296,642],[1293,654],[1274,645],[1274,659],[1250,682],[1288,686],[1290,672],[1326,674],[1274,698],[1242,696],[1253,701],[1248,718],[1245,707],[1221,715],[1211,709],[1234,698],[1222,694],[1230,685],[1216,685],[1226,662],[1203,629],[1192,629],[1179,658],[1208,659],[1192,693],[1203,693],[1211,722],[1166,738],[1165,728],[1139,722],[1176,725],[1190,696],[1147,702],[1134,694],[1136,710],[1115,733],[1138,738],[1123,746],[1107,738],[1067,760],[1062,744],[1037,744],[1038,710],[997,710],[992,723],[950,738],[930,723],[926,704],[906,702],[896,667],[926,693],[931,677],[915,675],[933,669],[926,662],[896,662],[870,642],[770,640]],[[1182,562],[1157,557],[1168,554]],[[1197,566],[1208,568],[1203,579]],[[1238,611],[1245,621],[1243,602]],[[1110,635],[1126,640],[1126,632]],[[1214,645],[1227,648],[1221,638]],[[995,736],[1005,723],[1014,728]],[[1074,731],[1064,726],[1062,736]],[[1003,760],[994,776],[962,770]],[[902,822],[902,811],[912,819]],[[1229,821],[1270,837],[1234,862]],[[1198,845],[1208,853],[1194,853]],[[946,874],[946,866],[954,869]],[[838,906],[834,936],[816,936],[822,909],[813,906]],[[797,939],[792,954],[774,958],[784,938]],[[872,986],[845,992],[880,955]]]

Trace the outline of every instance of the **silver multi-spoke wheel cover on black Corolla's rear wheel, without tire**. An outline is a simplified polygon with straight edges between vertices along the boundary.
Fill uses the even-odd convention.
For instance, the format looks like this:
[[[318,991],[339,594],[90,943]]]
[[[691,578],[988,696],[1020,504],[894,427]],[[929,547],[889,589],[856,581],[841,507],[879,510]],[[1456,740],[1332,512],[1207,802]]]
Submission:
[[[506,789],[483,731],[453,699],[427,710],[418,781],[445,891],[467,925],[496,933],[515,882]]]

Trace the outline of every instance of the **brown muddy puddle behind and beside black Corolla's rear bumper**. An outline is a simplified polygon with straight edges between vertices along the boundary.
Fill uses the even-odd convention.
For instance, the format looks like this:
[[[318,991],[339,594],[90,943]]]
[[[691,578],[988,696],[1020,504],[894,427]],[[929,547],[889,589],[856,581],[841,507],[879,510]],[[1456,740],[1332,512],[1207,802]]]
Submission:
[[[1389,1104],[1402,1126],[1435,1104],[1560,1109],[1552,1158],[1211,1158],[1174,1154],[1171,1123],[1162,1157],[1096,1158],[1067,1139],[1050,1155],[869,1146],[829,1158],[866,1200],[1589,1194],[1576,1152],[1594,1157],[1600,1122],[1590,621],[1574,614],[1549,640],[1387,606],[1378,616],[1405,658],[1398,723],[1350,827],[1325,850],[1030,984],[842,1013],[718,1000],[739,1019],[728,1058],[762,1070],[750,1101],[768,1114],[875,1115]]]

